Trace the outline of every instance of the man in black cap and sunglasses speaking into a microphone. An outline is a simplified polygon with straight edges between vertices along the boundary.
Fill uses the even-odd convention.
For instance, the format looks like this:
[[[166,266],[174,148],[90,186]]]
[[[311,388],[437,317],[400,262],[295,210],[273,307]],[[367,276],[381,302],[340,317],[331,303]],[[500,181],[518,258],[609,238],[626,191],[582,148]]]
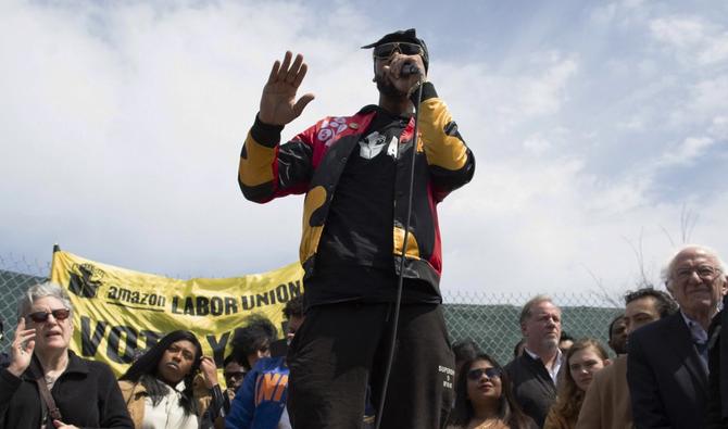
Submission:
[[[314,96],[297,100],[307,70],[300,54],[274,63],[238,181],[259,203],[306,194],[300,247],[306,318],[288,354],[293,428],[361,427],[367,388],[379,408],[393,332],[380,427],[438,428],[452,404],[454,362],[441,311],[437,204],[470,180],[475,159],[427,81],[429,54],[414,29],[363,48],[373,49],[378,103],[325,117],[283,144],[284,126]]]

